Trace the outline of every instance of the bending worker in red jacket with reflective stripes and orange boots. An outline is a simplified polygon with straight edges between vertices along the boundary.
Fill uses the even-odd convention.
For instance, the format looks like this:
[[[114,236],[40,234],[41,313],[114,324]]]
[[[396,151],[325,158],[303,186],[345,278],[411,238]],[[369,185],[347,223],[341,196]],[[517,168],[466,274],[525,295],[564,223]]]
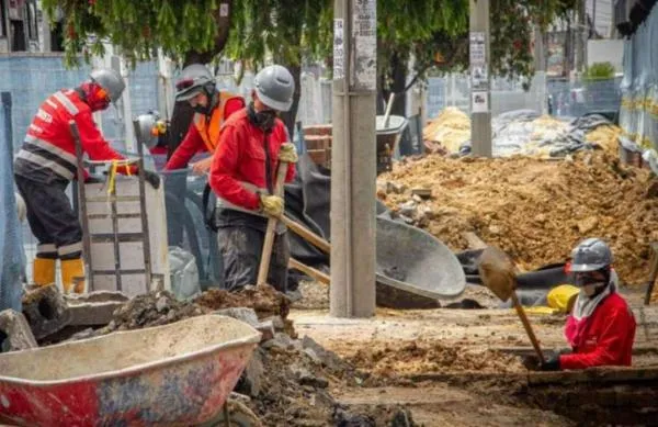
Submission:
[[[14,179],[27,209],[27,222],[38,239],[33,281],[38,285],[56,282],[55,263],[59,259],[65,292],[83,292],[84,269],[82,229],[65,191],[77,177],[76,143],[69,127],[75,121],[82,150],[92,160],[122,160],[97,128],[92,113],[116,102],[125,88],[121,75],[112,69],[91,71],[78,88],[53,93],[39,106],[14,160]],[[120,167],[122,173],[136,173],[135,167]],[[145,171],[154,187],[159,177]],[[89,178],[88,180],[92,180]],[[76,278],[77,285],[73,289]]]

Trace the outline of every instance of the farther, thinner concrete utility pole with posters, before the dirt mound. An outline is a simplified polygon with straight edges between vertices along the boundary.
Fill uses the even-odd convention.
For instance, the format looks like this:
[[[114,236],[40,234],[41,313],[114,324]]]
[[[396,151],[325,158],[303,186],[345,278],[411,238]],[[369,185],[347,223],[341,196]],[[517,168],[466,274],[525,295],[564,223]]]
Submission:
[[[478,157],[492,155],[489,38],[489,0],[470,0],[470,146]]]

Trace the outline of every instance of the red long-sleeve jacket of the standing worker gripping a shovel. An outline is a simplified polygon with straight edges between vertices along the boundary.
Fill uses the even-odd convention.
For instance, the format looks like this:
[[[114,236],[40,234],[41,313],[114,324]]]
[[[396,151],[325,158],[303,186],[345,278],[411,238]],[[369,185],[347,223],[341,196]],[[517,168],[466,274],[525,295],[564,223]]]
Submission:
[[[279,150],[281,145],[290,142],[283,122],[276,119],[274,128],[268,135],[272,183],[276,180]],[[259,198],[246,190],[242,182],[266,189],[265,180],[265,134],[260,127],[249,122],[247,109],[235,113],[224,124],[219,135],[219,145],[213,157],[209,184],[215,193],[228,202],[248,210],[259,207]],[[295,178],[295,166],[288,165],[285,182]]]

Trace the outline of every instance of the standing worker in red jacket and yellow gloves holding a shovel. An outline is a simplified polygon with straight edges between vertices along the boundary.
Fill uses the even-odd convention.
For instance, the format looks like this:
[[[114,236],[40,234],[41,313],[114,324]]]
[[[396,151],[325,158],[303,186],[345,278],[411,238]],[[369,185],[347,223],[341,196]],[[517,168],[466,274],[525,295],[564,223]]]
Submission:
[[[224,261],[224,284],[237,290],[257,284],[268,217],[283,214],[283,199],[273,195],[280,161],[290,164],[293,180],[295,146],[277,113],[293,103],[295,81],[287,69],[273,65],[254,79],[252,101],[224,124],[213,158],[209,184],[217,195],[217,240]],[[290,241],[279,223],[268,283],[286,291]]]

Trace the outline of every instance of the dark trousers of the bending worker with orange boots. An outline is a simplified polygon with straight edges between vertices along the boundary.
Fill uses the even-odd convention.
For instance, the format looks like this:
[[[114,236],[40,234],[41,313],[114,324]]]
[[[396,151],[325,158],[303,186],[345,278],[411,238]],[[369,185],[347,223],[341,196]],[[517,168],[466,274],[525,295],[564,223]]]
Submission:
[[[68,182],[43,183],[14,176],[27,207],[27,222],[38,239],[37,256],[76,259],[82,254],[82,227],[66,195]]]

